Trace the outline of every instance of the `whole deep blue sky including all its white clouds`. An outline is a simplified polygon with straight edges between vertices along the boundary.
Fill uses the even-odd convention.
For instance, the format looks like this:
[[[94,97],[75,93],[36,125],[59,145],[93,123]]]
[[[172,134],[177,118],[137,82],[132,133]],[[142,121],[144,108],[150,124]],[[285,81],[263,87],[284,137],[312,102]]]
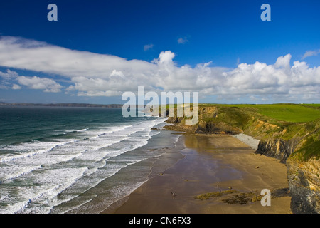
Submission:
[[[319,12],[316,0],[1,0],[0,102],[125,103],[144,86],[320,103]]]

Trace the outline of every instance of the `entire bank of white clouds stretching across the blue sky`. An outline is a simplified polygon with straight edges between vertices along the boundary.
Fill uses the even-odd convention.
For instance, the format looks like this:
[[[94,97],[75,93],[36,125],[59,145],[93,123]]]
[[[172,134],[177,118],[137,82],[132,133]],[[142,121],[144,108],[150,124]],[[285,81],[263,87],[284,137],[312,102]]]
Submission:
[[[21,68],[63,76],[71,82],[65,92],[81,96],[114,96],[124,91],[198,91],[199,95],[261,100],[319,100],[320,66],[311,68],[304,61],[292,61],[287,54],[274,64],[240,63],[236,68],[199,63],[195,67],[177,66],[175,53],[163,51],[151,62],[117,56],[75,51],[23,38],[0,39],[0,66]],[[21,86],[58,92],[63,89],[49,78],[15,76]],[[21,78],[23,77],[23,78]]]

